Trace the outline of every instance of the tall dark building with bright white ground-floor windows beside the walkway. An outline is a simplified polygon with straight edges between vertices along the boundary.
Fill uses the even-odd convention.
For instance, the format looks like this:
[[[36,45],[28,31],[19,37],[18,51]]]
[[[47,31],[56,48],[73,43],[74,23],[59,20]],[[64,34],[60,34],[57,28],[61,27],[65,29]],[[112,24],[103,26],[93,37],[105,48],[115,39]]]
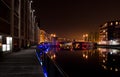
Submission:
[[[0,51],[13,51],[38,42],[38,25],[31,0],[0,0]]]

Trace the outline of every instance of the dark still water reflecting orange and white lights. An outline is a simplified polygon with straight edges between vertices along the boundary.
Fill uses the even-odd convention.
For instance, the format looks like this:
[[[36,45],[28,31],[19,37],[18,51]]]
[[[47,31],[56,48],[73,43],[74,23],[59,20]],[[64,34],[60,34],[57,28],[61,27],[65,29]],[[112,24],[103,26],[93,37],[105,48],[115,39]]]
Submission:
[[[120,77],[120,50],[58,50],[47,53],[69,77]]]

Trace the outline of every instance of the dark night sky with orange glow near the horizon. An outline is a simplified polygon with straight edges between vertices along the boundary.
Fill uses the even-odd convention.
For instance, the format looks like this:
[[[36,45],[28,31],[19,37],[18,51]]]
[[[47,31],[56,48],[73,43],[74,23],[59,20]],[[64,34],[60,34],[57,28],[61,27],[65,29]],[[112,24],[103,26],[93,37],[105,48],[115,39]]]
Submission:
[[[41,29],[69,39],[120,19],[120,0],[33,0],[33,8]]]

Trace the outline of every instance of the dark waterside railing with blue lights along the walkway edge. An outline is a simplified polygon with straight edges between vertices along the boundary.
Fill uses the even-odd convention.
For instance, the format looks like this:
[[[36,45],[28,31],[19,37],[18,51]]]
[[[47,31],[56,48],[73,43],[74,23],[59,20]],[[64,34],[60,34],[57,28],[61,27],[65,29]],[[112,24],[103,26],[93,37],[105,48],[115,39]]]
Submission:
[[[69,77],[44,51],[36,50],[39,61],[42,62],[43,70],[47,77]]]

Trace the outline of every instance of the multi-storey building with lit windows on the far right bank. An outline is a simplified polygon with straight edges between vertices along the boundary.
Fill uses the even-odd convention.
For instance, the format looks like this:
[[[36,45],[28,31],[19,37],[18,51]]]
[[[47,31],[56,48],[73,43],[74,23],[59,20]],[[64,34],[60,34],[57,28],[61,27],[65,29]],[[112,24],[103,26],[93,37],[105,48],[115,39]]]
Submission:
[[[120,21],[109,21],[99,27],[99,41],[105,44],[120,43]]]

